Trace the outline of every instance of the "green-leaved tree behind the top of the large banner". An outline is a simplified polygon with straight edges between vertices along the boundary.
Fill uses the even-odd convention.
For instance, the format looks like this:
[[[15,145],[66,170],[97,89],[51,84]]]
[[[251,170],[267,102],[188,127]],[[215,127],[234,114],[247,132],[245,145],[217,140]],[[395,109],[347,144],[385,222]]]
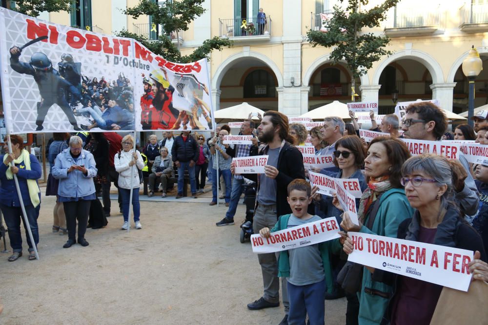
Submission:
[[[151,22],[162,25],[166,32],[175,31],[179,39],[179,30],[187,31],[190,22],[202,16],[205,9],[202,7],[204,0],[178,0],[166,1],[163,5],[151,0],[140,0],[139,4],[132,8],[127,8],[123,12],[126,15],[138,18],[139,16],[150,16]],[[213,50],[222,51],[224,47],[232,45],[232,41],[219,37],[206,39],[203,44],[196,48],[190,55],[182,56],[180,44],[173,44],[168,35],[159,36],[156,41],[150,41],[147,37],[130,33],[126,30],[121,31],[118,36],[134,38],[153,53],[164,57],[172,62],[189,63],[208,58]]]

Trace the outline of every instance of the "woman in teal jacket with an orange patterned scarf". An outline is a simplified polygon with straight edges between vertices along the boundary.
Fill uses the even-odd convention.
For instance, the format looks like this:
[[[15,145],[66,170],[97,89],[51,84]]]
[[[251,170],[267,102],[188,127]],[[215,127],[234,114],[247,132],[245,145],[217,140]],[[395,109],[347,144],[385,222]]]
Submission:
[[[343,229],[396,238],[400,223],[413,213],[400,184],[402,165],[409,157],[407,145],[401,140],[381,136],[371,141],[365,159],[368,188],[358,207],[359,226],[353,224],[345,212],[341,223]],[[336,207],[339,206],[337,198],[334,203]],[[379,208],[368,229],[365,225],[369,217],[373,217],[370,212],[376,204],[379,204]],[[358,292],[359,324],[380,324],[391,294],[391,286],[373,281],[371,272],[364,268],[363,282]]]

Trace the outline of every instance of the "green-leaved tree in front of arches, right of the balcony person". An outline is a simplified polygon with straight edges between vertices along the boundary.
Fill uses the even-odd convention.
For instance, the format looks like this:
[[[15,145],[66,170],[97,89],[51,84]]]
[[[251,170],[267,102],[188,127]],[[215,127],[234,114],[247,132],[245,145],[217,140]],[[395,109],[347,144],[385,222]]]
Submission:
[[[341,3],[344,0],[339,0]],[[334,63],[346,61],[347,68],[352,73],[352,100],[355,99],[355,78],[364,76],[371,69],[373,63],[382,56],[391,55],[386,50],[389,38],[386,35],[375,35],[362,32],[363,28],[380,26],[386,19],[386,11],[394,7],[399,0],[386,0],[381,5],[369,10],[361,10],[361,5],[367,5],[368,0],[348,0],[343,9],[335,5],[330,19],[325,20],[325,31],[309,30],[307,38],[312,47],[321,45],[334,47],[330,58]]]

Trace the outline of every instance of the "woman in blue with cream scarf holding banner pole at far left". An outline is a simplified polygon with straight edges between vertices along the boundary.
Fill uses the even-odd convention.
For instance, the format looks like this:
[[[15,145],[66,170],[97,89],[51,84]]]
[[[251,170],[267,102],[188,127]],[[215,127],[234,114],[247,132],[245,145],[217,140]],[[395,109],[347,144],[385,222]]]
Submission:
[[[8,137],[3,139],[3,150],[5,152],[8,152],[7,139]],[[12,153],[5,154],[3,156],[3,164],[0,165],[0,209],[3,213],[5,224],[7,225],[10,247],[13,250],[13,254],[8,258],[8,261],[13,262],[22,256],[20,219],[22,219],[22,223],[24,222],[19,196],[15,187],[14,174],[17,174],[17,179],[19,180],[22,201],[27,219],[29,220],[32,237],[37,247],[37,244],[39,244],[37,218],[39,217],[39,209],[41,208],[41,191],[39,190],[37,180],[41,177],[41,165],[35,155],[29,154],[23,149],[24,140],[20,135],[10,135],[10,143],[12,144]],[[13,167],[9,167],[10,162],[13,162]],[[27,235],[28,232],[25,223],[24,229],[27,237],[27,245],[29,245],[29,260],[35,260],[34,247],[30,237]]]

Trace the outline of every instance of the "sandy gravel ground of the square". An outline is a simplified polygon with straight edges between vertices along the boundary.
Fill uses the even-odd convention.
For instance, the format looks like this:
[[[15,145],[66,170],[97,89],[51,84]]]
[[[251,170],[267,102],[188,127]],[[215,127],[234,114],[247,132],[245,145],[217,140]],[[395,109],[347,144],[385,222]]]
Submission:
[[[263,285],[249,242],[239,242],[244,205],[235,225],[216,227],[223,204],[143,201],[142,229],[132,223],[130,232],[112,208],[107,227],[87,230],[90,246],[63,249],[67,236],[51,232],[54,203],[42,196],[39,261],[27,260],[26,247],[13,263],[0,253],[0,324],[278,324],[284,316],[282,306],[246,307]],[[325,310],[325,324],[345,324],[345,298]]]

